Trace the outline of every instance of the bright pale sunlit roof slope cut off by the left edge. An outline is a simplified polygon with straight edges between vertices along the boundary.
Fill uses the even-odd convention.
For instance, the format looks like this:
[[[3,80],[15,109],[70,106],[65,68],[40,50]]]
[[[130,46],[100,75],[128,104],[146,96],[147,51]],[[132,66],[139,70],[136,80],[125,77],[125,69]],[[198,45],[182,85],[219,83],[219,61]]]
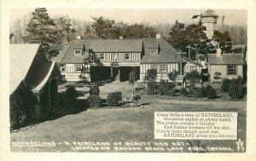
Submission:
[[[39,44],[9,45],[9,94],[12,94],[26,77],[38,48]]]

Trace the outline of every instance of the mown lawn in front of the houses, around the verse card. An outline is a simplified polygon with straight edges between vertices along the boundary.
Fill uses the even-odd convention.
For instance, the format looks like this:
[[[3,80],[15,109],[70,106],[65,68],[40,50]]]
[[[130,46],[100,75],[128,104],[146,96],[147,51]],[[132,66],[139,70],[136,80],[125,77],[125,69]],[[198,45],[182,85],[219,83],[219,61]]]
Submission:
[[[84,91],[85,95],[87,94],[84,89],[88,87],[80,84],[79,88]],[[131,86],[128,83],[106,83],[100,87],[100,90],[100,95],[108,95],[111,91],[121,90],[124,97],[131,96]],[[30,128],[11,133],[10,141],[55,141],[56,146],[11,146],[11,150],[13,152],[117,152],[113,147],[109,150],[98,151],[73,149],[66,146],[65,141],[110,142],[111,144],[127,141],[167,142],[169,145],[183,142],[185,147],[191,146],[191,141],[187,140],[154,139],[154,112],[238,112],[237,137],[241,141],[246,141],[246,101],[179,101],[170,100],[170,97],[166,96],[143,95],[140,103],[143,103],[143,108],[85,110],[32,125]],[[236,152],[235,141],[192,141],[192,145],[198,147],[196,144],[209,147],[231,147],[232,151]],[[139,152],[144,151],[162,152],[160,149],[154,151],[143,149]],[[118,152],[127,152],[127,150],[123,149]],[[189,150],[183,148],[182,152],[189,152]]]

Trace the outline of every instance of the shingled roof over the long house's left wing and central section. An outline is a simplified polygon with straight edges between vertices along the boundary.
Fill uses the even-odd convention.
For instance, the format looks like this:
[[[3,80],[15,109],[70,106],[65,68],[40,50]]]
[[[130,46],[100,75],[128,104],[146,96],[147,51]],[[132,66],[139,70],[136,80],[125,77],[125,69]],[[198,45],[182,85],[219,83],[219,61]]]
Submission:
[[[84,49],[84,55],[74,56],[73,49]],[[59,63],[83,63],[88,50],[93,52],[142,52],[143,39],[73,40],[56,58]]]

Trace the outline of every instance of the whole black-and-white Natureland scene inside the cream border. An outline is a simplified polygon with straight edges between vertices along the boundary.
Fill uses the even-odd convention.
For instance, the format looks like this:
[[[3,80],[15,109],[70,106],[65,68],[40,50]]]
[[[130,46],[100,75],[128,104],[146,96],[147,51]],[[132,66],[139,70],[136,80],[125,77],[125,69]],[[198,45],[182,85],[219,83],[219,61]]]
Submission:
[[[249,12],[11,7],[8,151],[252,152]]]

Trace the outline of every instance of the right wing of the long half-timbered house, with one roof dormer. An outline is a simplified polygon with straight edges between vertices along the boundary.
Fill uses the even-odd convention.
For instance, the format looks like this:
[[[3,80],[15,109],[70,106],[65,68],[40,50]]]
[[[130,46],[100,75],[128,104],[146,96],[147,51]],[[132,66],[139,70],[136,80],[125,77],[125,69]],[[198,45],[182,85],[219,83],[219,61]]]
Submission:
[[[168,80],[168,73],[180,72],[180,56],[164,38],[144,38],[140,79],[143,80],[148,69],[156,69],[156,81]]]

